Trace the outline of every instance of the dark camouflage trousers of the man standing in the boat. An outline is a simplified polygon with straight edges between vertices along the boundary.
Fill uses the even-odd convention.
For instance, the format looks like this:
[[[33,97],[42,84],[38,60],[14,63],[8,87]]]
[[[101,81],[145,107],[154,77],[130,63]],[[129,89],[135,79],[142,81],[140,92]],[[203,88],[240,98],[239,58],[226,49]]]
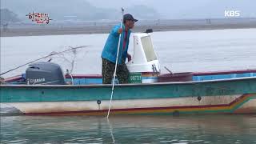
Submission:
[[[102,83],[110,84],[114,75],[114,62],[102,58]],[[122,60],[122,64],[117,67],[117,76],[119,83],[128,83],[129,70],[127,69],[126,63]]]

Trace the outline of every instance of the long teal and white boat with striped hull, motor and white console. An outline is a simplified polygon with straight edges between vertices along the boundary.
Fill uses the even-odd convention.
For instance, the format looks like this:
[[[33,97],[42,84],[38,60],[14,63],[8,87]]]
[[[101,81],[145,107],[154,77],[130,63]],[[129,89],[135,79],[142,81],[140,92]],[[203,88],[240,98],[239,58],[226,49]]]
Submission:
[[[150,34],[134,34],[128,84],[114,83],[111,114],[256,114],[256,69],[162,74]],[[34,62],[6,78],[1,103],[23,114],[107,114],[111,84],[98,74],[64,74]]]

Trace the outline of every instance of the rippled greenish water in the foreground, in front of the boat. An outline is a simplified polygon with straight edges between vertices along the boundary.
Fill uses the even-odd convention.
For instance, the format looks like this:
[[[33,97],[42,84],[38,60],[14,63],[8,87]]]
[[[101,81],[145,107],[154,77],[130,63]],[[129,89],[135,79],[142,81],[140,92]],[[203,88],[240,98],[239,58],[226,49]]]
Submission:
[[[255,143],[256,115],[110,116],[110,123],[102,117],[2,115],[1,141]]]

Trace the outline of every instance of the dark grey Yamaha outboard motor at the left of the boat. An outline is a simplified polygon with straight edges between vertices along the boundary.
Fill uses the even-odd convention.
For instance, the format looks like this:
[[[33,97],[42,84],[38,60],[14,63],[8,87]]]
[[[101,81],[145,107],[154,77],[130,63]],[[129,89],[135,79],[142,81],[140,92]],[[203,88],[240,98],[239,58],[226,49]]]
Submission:
[[[35,62],[26,69],[28,85],[64,85],[65,77],[61,66],[53,62]]]

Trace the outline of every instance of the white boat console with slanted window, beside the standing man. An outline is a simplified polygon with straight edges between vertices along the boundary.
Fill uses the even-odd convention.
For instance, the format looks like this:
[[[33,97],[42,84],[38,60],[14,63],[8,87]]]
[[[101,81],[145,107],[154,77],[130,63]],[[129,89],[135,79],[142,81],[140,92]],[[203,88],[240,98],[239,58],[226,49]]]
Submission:
[[[134,54],[126,64],[130,71],[130,83],[152,83],[158,81],[160,64],[150,34],[134,34]]]

